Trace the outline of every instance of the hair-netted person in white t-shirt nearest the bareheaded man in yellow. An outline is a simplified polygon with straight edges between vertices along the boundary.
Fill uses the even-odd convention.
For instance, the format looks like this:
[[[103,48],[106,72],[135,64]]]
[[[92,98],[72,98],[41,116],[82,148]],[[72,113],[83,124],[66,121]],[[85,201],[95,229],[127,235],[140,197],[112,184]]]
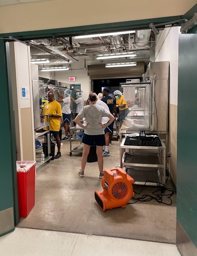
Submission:
[[[70,122],[71,122],[71,90],[70,89],[66,89],[65,90],[65,98],[60,94],[60,91],[57,90],[58,93],[58,97],[59,100],[56,100],[57,102],[63,102],[63,106],[62,106],[62,115],[63,115],[63,126],[65,128],[66,131],[66,136],[62,139],[62,141],[66,141],[68,140],[68,133],[70,131]]]

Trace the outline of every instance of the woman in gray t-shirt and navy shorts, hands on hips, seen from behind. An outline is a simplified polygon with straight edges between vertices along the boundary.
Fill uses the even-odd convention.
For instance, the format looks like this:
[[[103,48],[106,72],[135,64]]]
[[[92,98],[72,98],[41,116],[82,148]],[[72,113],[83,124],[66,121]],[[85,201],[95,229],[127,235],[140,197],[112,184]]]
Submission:
[[[80,177],[84,177],[85,165],[89,154],[90,146],[96,145],[96,153],[99,165],[99,178],[103,177],[103,146],[105,145],[104,128],[114,121],[114,116],[110,114],[103,106],[96,104],[97,96],[95,93],[89,94],[90,105],[85,106],[76,116],[75,122],[81,128],[84,128],[85,135],[83,136],[82,143],[84,143],[83,155],[81,158],[81,170],[78,172]],[[102,117],[108,117],[109,121],[102,124]],[[80,119],[86,119],[86,125],[80,122]]]

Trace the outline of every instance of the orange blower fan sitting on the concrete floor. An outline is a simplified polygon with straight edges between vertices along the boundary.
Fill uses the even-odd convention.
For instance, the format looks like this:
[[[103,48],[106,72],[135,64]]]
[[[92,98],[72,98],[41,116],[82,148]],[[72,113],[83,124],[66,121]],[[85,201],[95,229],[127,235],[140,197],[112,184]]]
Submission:
[[[103,211],[117,207],[125,208],[131,197],[135,195],[133,183],[134,179],[121,168],[104,169],[101,183],[103,191],[95,191],[95,200]]]

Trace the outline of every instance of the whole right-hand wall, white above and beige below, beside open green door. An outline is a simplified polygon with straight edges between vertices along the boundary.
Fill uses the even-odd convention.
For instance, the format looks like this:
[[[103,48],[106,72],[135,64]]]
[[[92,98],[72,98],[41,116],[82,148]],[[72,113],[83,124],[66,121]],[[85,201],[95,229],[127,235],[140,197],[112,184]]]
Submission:
[[[178,38],[178,27],[165,28],[156,37],[155,49],[156,62],[170,62],[168,151],[171,152],[171,158],[169,158],[169,170],[175,184],[177,161]]]

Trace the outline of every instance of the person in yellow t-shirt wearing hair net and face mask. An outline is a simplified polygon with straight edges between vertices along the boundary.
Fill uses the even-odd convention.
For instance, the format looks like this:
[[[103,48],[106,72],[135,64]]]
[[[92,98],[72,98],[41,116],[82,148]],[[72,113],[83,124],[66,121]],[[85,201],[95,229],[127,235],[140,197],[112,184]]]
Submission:
[[[122,95],[121,91],[116,90],[113,94],[116,98],[116,105],[118,105],[119,108],[119,121],[121,127],[125,117],[128,115],[128,105],[127,101],[124,100],[124,96]]]

